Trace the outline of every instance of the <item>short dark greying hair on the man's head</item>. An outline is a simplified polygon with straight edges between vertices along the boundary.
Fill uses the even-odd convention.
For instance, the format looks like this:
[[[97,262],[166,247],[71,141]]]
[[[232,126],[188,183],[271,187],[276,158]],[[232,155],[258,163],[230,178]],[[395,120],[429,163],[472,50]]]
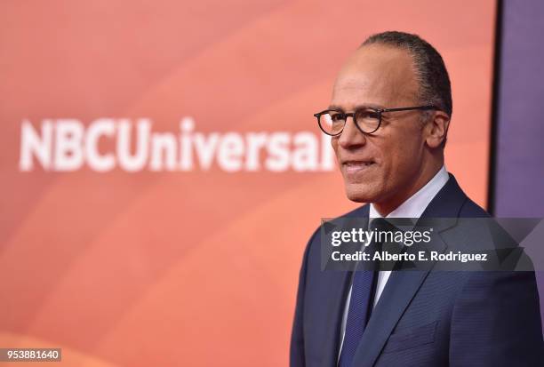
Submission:
[[[452,117],[452,85],[440,53],[422,39],[410,33],[387,31],[368,37],[361,47],[384,44],[410,53],[420,84],[420,101],[436,106]]]

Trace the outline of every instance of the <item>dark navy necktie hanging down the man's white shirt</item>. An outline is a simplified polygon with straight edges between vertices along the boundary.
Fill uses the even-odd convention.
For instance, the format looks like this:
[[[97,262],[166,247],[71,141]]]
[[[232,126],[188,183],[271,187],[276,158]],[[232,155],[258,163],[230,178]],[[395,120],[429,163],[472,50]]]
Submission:
[[[371,228],[380,230],[384,227],[381,221],[384,219],[372,220]],[[372,242],[368,246],[371,259],[376,251],[381,251],[381,243]],[[357,270],[353,275],[351,284],[351,297],[349,299],[348,320],[344,332],[344,341],[340,352],[339,367],[351,367],[353,357],[359,342],[363,337],[364,328],[372,313],[372,304],[376,282],[378,280],[377,261],[364,261],[365,270]]]

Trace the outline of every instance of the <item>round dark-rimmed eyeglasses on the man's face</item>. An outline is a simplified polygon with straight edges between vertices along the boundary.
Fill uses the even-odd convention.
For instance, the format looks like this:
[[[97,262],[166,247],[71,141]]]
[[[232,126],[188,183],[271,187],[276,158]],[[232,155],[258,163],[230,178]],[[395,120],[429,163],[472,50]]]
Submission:
[[[344,112],[341,109],[325,109],[324,111],[314,114],[317,117],[317,124],[321,130],[331,136],[337,136],[342,133],[346,120],[349,116],[353,118],[353,122],[364,134],[372,134],[380,129],[381,114],[384,112],[410,111],[412,109],[429,110],[438,109],[436,106],[416,106],[403,108],[372,108],[364,107],[357,108],[355,112]]]

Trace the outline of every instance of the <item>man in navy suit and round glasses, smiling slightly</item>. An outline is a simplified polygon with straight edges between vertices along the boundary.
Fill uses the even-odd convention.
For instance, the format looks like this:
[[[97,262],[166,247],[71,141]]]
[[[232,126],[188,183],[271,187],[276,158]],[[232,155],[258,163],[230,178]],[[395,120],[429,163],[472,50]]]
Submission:
[[[368,38],[316,114],[348,198],[367,203],[346,217],[488,217],[445,171],[451,116],[449,76],[430,44],[402,32]],[[464,234],[441,230],[444,246]],[[292,367],[544,365],[532,271],[322,271],[320,237],[300,270]]]

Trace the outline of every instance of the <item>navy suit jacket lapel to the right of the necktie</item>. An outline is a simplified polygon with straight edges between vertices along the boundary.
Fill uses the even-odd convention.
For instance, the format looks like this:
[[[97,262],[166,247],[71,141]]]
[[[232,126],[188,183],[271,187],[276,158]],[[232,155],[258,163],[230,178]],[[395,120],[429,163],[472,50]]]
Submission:
[[[435,227],[435,230],[440,234],[449,227],[455,226],[460,207],[466,200],[467,196],[450,174],[450,180],[428,204],[421,218],[452,218],[451,221],[442,220],[440,225]],[[431,247],[433,250],[444,251],[447,245],[441,235],[434,235],[432,238]],[[427,250],[427,246],[423,247],[415,244],[407,249],[408,252],[412,253],[425,250]],[[404,314],[404,310],[420,289],[421,283],[423,283],[433,266],[433,261],[427,261],[420,270],[394,271],[391,273],[380,300],[372,311],[369,323],[366,325],[363,338],[354,357],[354,365],[371,367],[376,362],[391,331],[395,328],[396,323]]]

